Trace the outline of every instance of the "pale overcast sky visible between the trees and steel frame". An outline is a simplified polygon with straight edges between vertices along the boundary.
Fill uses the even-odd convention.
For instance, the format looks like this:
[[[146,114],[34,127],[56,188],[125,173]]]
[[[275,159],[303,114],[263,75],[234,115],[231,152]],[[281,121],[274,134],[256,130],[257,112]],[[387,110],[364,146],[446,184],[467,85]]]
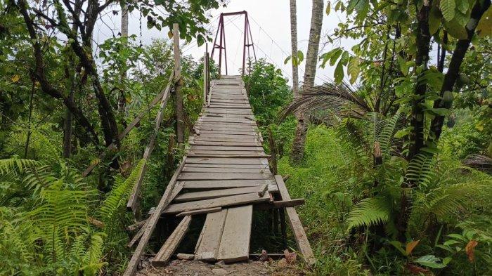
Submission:
[[[283,70],[285,77],[292,81],[292,65],[284,64],[285,58],[290,55],[290,6],[289,0],[231,0],[226,8],[209,11],[212,16],[209,30],[215,35],[220,13],[229,13],[234,11],[247,11],[250,18],[250,27],[252,38],[257,54],[257,58],[266,58],[269,63],[275,64]],[[114,6],[119,9],[119,6]],[[95,33],[94,39],[102,42],[107,37],[112,36],[112,32],[119,32],[120,15],[108,13],[104,20],[98,22],[98,32]],[[157,29],[147,29],[145,17],[142,20],[142,43],[150,44],[153,38],[167,38],[169,29],[164,28],[162,31]],[[324,13],[323,29],[321,37],[320,52],[330,51],[335,46],[332,44],[323,44],[325,34],[332,33],[337,24],[343,20],[343,16],[337,15],[333,10],[330,15]],[[311,22],[311,1],[297,0],[297,39],[298,48],[306,53],[309,39],[309,28]],[[228,58],[228,74],[239,74],[242,66],[242,31],[244,26],[243,16],[227,17],[224,21],[226,32],[226,51]],[[129,34],[136,34],[137,40],[140,40],[140,14],[131,13],[129,16]],[[213,38],[213,37],[212,37]],[[354,45],[354,41],[341,41],[344,48],[349,50]],[[324,45],[324,46],[323,46]],[[193,55],[195,59],[201,58],[205,52],[205,45],[198,47],[193,41],[185,45],[181,41],[181,48],[185,55]],[[209,44],[209,51],[212,50],[212,44]],[[214,53],[214,59],[217,60],[218,52]],[[224,60],[223,60],[224,63]],[[225,68],[223,64],[223,73]],[[327,65],[325,69],[318,69],[316,73],[316,84],[332,79],[335,67]],[[299,67],[299,81],[304,76],[304,63]]]

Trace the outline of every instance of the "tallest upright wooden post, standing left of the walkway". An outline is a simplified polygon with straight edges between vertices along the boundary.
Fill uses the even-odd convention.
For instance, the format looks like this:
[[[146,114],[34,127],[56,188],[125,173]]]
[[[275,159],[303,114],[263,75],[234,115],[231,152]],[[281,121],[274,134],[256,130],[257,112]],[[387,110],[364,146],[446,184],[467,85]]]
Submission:
[[[176,92],[176,121],[178,146],[182,150],[184,147],[184,110],[183,97],[181,96],[181,53],[179,53],[179,25],[172,25],[174,41],[174,91]]]

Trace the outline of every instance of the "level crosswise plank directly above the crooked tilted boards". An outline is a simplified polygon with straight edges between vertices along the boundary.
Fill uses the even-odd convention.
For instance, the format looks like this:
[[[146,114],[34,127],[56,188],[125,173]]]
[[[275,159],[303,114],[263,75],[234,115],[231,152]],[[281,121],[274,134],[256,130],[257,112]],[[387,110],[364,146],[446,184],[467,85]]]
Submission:
[[[182,181],[185,189],[226,189],[226,188],[240,188],[240,187],[252,187],[263,185],[268,183],[268,190],[272,186],[276,186],[275,180],[186,180]]]

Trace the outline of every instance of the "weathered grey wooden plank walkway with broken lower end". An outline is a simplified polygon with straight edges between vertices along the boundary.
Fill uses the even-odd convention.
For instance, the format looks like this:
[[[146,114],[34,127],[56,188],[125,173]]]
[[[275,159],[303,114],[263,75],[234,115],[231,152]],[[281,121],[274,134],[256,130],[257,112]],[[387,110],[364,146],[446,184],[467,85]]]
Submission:
[[[209,100],[202,108],[190,136],[186,157],[181,162],[157,206],[157,213],[145,223],[143,237],[124,275],[136,270],[143,247],[162,214],[182,218],[178,228],[153,259],[166,263],[188,230],[192,216],[205,214],[195,259],[201,261],[243,261],[250,254],[253,205],[282,208],[290,202],[287,189],[278,183],[268,166],[261,137],[240,76],[223,76],[213,81]],[[273,202],[278,194],[279,202]],[[289,202],[290,201],[290,202]],[[287,203],[286,203],[287,202]],[[293,205],[290,205],[293,206]],[[293,207],[287,208],[292,232],[306,263],[314,262],[304,228]],[[141,251],[138,251],[141,249]],[[133,265],[131,267],[131,265]]]

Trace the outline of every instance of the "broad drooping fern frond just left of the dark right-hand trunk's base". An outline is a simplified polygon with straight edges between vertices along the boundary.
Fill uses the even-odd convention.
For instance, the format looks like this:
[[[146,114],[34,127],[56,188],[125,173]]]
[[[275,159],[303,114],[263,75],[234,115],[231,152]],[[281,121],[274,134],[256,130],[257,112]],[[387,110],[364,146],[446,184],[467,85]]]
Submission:
[[[387,223],[391,216],[391,204],[387,199],[371,197],[363,199],[350,211],[349,228]]]

